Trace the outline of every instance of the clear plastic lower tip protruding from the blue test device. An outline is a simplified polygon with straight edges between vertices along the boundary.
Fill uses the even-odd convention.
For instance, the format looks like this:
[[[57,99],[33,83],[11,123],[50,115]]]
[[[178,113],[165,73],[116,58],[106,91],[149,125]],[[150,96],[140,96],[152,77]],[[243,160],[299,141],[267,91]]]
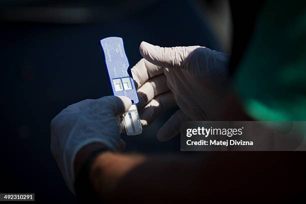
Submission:
[[[122,116],[127,135],[136,135],[142,132],[136,104],[132,104],[128,111],[125,112]]]

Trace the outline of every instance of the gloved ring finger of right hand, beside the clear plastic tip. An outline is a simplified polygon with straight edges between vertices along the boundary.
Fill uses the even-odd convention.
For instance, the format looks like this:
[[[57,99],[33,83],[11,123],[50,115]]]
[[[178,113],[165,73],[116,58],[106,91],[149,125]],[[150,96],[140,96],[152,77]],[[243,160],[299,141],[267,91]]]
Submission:
[[[171,91],[157,95],[140,112],[141,125],[147,126],[151,124],[165,110],[175,106],[174,94]]]

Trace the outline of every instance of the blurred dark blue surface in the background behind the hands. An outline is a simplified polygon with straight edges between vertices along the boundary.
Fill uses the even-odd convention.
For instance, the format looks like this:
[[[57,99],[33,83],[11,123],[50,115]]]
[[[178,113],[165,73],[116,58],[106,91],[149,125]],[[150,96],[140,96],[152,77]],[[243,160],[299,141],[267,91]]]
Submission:
[[[68,104],[110,95],[98,41],[120,36],[131,65],[142,40],[160,46],[203,45],[218,50],[188,1],[161,1],[125,19],[92,24],[1,25],[1,192],[34,192],[45,202],[74,201],[50,153],[50,120]],[[179,151],[179,138],[155,134],[168,111],[138,136],[123,136],[126,151]]]

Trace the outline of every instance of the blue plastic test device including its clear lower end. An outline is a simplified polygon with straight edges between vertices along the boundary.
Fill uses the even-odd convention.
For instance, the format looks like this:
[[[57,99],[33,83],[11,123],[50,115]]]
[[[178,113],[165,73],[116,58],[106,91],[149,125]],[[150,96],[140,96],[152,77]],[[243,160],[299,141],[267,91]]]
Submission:
[[[128,111],[122,115],[126,134],[140,134],[142,127],[136,106],[139,99],[125,55],[123,40],[121,37],[106,37],[100,40],[100,46],[104,53],[105,68],[113,94],[126,96],[132,102]]]

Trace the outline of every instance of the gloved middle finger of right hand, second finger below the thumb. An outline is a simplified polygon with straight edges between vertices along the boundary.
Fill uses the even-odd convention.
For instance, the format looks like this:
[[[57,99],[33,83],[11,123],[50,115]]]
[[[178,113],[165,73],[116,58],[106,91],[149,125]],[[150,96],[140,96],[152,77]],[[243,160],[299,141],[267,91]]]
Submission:
[[[139,102],[137,103],[138,109],[142,109],[145,104],[152,100],[156,95],[168,91],[167,79],[164,74],[159,74],[153,78],[148,79],[137,90]]]

